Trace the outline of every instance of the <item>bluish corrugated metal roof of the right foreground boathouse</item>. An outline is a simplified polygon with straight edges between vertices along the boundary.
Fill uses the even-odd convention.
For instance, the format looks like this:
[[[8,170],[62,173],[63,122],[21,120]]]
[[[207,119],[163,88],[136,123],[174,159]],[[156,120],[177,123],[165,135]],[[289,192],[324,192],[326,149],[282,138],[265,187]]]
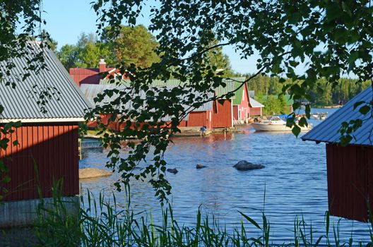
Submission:
[[[317,142],[325,143],[339,143],[341,133],[338,133],[338,129],[341,128],[343,121],[350,121],[352,119],[366,119],[363,121],[362,126],[353,133],[356,140],[350,141],[350,144],[354,145],[373,145],[373,118],[367,115],[363,115],[359,112],[359,108],[353,109],[356,102],[365,101],[371,102],[372,100],[372,88],[369,87],[366,90],[360,92],[352,100],[347,102],[341,109],[328,116],[327,119],[315,126],[311,131],[302,136],[302,140],[314,140]]]

